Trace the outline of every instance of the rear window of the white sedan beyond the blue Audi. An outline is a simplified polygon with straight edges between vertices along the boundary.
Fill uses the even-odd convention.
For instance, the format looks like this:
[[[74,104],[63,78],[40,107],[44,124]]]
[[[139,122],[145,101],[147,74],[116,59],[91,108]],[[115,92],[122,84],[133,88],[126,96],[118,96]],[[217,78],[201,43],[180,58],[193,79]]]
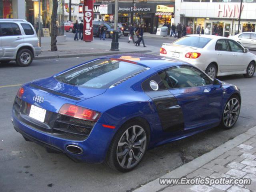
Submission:
[[[192,46],[196,48],[204,48],[208,42],[210,42],[210,38],[205,37],[197,37],[197,36],[185,36],[173,42],[176,45],[184,45],[184,46]]]

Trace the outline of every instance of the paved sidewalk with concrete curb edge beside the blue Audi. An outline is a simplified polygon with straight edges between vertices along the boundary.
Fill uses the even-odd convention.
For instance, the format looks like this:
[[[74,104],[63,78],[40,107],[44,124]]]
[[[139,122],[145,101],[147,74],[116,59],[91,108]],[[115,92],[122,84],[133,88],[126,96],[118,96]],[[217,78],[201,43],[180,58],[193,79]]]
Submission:
[[[252,192],[256,191],[256,127],[236,136],[161,178],[250,178],[250,185],[160,185],[159,179],[134,192]]]

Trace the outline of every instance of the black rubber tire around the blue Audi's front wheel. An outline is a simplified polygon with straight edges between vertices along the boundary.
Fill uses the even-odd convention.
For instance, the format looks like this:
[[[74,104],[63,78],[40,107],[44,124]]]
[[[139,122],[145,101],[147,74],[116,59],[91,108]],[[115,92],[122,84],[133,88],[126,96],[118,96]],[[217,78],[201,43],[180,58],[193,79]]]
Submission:
[[[225,120],[224,120],[224,116],[227,117],[224,113],[225,113],[225,110],[227,109],[226,107],[228,106],[228,103],[229,103],[231,100],[235,100],[235,101],[237,100],[237,101],[238,101],[238,104],[239,104],[239,107],[238,107],[238,112],[237,112],[237,114],[235,114],[235,115],[237,116],[237,117],[235,117],[235,120],[234,120],[234,117],[233,117],[234,113],[231,112],[232,109],[230,110],[230,112],[226,113],[226,114],[232,114],[232,119],[234,120],[234,122],[232,122],[232,124],[230,124],[230,126],[228,126],[228,125],[225,123]],[[230,106],[230,107],[231,107],[231,106]],[[233,107],[236,108],[237,105],[234,105]],[[224,110],[223,110],[223,112],[222,112],[222,118],[221,118],[221,122],[220,122],[220,127],[223,128],[223,129],[231,129],[231,128],[236,124],[236,121],[238,120],[238,117],[239,117],[239,114],[240,114],[240,108],[241,108],[241,100],[240,100],[240,98],[239,98],[237,95],[232,95],[232,96],[228,99],[228,101],[226,102],[226,104],[225,104],[225,108],[224,108]],[[227,121],[229,121],[229,116],[228,116],[228,120],[227,120]]]

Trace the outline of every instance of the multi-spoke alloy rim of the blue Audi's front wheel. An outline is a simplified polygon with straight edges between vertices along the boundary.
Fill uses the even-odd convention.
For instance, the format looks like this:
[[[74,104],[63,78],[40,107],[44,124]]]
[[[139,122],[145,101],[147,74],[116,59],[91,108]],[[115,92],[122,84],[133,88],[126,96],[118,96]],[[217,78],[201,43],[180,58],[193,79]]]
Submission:
[[[223,113],[223,121],[226,127],[232,127],[238,119],[240,112],[240,102],[237,98],[232,98],[226,104]]]

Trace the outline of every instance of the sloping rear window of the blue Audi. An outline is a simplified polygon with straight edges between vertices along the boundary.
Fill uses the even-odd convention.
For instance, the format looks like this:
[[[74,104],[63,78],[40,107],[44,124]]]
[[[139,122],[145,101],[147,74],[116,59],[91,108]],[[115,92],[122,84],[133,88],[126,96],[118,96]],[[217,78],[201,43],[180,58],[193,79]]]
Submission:
[[[112,84],[144,68],[124,61],[99,59],[64,72],[56,79],[74,86],[109,88]]]

